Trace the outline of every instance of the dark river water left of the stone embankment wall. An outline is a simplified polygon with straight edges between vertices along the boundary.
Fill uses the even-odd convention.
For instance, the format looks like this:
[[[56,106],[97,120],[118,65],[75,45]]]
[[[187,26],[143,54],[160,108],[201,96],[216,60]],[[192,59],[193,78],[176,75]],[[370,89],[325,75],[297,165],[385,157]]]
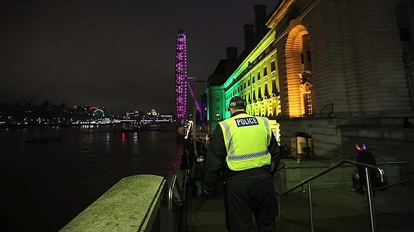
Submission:
[[[182,145],[174,129],[63,127],[3,129],[0,151],[0,231],[55,232],[121,178],[179,169]]]

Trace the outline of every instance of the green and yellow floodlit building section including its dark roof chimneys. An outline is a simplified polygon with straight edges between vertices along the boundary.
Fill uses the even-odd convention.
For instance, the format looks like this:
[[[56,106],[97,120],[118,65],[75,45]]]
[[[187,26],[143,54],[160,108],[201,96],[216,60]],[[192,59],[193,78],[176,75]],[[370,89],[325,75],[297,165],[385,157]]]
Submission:
[[[273,30],[266,28],[266,6],[255,6],[255,25],[244,25],[245,47],[237,57],[237,48],[227,48],[227,59],[221,60],[208,78],[206,89],[208,120],[215,128],[220,120],[228,118],[230,98],[241,96],[248,104],[248,114],[266,116],[278,134],[276,116],[279,107],[279,80],[277,54]]]

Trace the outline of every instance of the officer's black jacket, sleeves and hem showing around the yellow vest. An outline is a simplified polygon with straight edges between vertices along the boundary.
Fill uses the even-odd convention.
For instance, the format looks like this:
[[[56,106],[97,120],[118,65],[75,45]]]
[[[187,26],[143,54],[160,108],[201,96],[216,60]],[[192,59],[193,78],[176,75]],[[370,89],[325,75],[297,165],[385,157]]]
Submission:
[[[238,114],[246,114],[246,112],[235,112],[232,117]],[[280,162],[280,149],[273,133],[270,138],[270,145],[268,145],[268,151],[270,152],[271,159],[275,164],[274,170],[276,170]],[[220,176],[224,178],[232,178],[237,176],[269,176],[269,173],[272,175],[274,173],[270,169],[270,165],[246,169],[243,171],[230,170],[226,165],[226,156],[227,149],[224,143],[223,132],[221,130],[221,126],[217,125],[213,138],[210,140],[210,145],[208,145],[208,151],[206,154],[206,176],[204,177],[206,190],[215,190],[217,179],[220,178]]]

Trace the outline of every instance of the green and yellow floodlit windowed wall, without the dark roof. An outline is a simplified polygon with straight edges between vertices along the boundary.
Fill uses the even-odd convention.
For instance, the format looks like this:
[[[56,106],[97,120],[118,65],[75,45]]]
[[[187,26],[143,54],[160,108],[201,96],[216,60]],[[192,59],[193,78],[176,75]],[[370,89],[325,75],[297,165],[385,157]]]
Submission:
[[[272,29],[224,83],[222,101],[225,107],[221,109],[224,118],[230,117],[226,106],[233,96],[241,96],[247,101],[248,114],[270,119],[280,114],[277,51],[274,44],[275,29]]]

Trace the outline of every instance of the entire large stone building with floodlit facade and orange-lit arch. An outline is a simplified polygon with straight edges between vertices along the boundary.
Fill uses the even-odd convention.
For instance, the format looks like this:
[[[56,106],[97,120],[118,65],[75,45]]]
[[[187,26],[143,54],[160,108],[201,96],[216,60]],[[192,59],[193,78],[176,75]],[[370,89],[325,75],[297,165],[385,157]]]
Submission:
[[[376,156],[408,160],[412,170],[413,129],[403,118],[414,121],[413,4],[279,1],[266,34],[206,90],[212,128],[239,95],[249,114],[273,121],[290,151],[299,149],[292,141],[300,132],[312,136],[317,156],[349,158],[365,143]]]

